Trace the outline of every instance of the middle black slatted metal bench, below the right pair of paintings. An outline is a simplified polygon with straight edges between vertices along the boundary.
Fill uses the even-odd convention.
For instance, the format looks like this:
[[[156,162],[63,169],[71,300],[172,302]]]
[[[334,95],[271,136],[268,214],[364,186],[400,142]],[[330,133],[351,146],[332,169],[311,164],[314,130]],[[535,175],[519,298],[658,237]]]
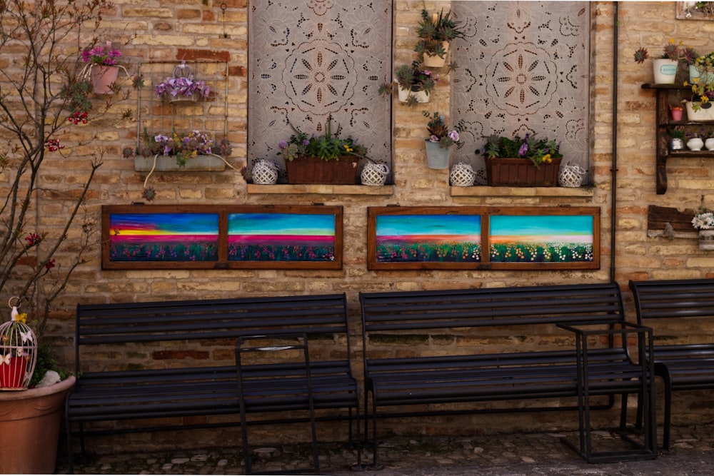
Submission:
[[[499,410],[578,410],[580,444],[566,442],[590,462],[657,456],[652,369],[643,357],[651,333],[625,322],[616,283],[361,293],[360,300],[365,433],[371,419],[373,465],[379,418]],[[628,337],[637,343],[636,362]],[[605,344],[593,344],[598,338]],[[471,345],[472,340],[483,345]],[[627,393],[643,396],[643,445],[625,435]],[[634,445],[595,452],[590,410],[613,407],[617,395],[623,396],[620,430]],[[520,409],[441,408],[565,397],[570,397],[565,406],[550,401]],[[595,405],[591,397],[598,400]]]

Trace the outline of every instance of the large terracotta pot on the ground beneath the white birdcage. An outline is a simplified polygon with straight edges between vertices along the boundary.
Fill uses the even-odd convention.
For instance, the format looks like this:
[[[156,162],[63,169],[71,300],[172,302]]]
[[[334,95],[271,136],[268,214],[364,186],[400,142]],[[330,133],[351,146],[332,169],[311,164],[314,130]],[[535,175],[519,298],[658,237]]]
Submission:
[[[0,473],[54,473],[64,401],[74,380],[0,392]]]

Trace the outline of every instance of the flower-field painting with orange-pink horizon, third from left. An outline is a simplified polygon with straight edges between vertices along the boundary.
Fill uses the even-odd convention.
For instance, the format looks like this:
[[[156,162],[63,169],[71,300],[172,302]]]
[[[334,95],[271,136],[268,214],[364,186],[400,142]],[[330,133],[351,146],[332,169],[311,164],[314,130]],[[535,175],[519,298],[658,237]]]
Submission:
[[[478,263],[481,216],[376,216],[377,263]]]

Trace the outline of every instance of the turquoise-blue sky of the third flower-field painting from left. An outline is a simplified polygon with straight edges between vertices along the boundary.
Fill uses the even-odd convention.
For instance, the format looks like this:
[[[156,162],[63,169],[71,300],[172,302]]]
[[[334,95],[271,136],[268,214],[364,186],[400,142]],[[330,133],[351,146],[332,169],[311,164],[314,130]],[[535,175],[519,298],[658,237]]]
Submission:
[[[399,215],[378,216],[376,236],[478,235],[478,215]]]

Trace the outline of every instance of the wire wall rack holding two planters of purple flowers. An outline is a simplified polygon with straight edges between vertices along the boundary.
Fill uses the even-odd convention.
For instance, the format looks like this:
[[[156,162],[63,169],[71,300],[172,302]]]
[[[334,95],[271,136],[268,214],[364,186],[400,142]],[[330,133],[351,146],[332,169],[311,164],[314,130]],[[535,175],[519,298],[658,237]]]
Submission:
[[[223,171],[228,146],[228,64],[226,61],[147,61],[139,66],[134,170],[148,172]]]

